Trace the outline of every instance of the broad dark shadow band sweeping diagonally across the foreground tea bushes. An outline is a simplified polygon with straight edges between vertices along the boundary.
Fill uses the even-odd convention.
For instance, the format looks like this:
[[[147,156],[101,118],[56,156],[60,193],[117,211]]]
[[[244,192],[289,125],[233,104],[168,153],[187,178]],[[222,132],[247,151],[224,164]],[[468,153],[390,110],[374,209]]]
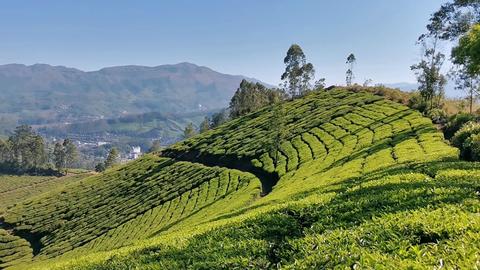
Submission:
[[[480,167],[478,164],[475,166]],[[174,260],[180,267],[196,265],[205,269],[218,266],[218,258],[222,258],[226,268],[233,268],[240,260],[247,260],[254,268],[268,269],[279,262],[285,264],[294,260],[298,247],[288,240],[328,230],[348,230],[382,215],[426,208],[434,210],[478,199],[475,191],[480,186],[479,179],[452,177],[433,180],[421,175],[404,174],[403,181],[374,181],[382,176],[407,172],[408,169],[421,172],[426,167],[434,168],[431,171],[434,172],[458,168],[458,164],[432,162],[377,171],[366,176],[368,179],[362,181],[365,183],[363,187],[358,186],[359,179],[345,181],[338,188],[338,195],[326,204],[287,206],[194,236],[182,247],[153,247],[134,256],[141,256],[143,263]],[[355,186],[358,188],[352,189]],[[437,243],[450,237],[448,234],[430,235],[421,229],[414,233],[418,234],[418,238],[412,240],[417,241],[416,244]]]

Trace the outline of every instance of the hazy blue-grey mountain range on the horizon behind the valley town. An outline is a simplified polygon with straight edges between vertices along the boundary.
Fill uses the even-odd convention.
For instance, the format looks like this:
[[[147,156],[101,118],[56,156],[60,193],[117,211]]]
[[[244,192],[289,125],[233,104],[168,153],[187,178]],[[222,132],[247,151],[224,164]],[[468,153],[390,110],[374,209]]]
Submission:
[[[219,109],[227,106],[242,79],[258,81],[191,63],[91,72],[46,64],[0,65],[0,128]]]

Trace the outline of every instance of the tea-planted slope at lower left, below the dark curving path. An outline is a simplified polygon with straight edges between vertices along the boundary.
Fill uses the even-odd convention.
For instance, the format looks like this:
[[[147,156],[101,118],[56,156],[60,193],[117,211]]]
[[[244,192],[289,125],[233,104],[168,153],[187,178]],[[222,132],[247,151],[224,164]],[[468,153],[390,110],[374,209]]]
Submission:
[[[123,168],[11,207],[4,220],[14,233],[27,235],[35,241],[32,246],[38,249],[33,249],[34,255],[55,257],[119,226],[128,226],[127,222],[145,213],[148,215],[152,209],[171,206],[165,223],[156,224],[149,232],[154,233],[189,215],[188,211],[198,211],[206,203],[243,187],[252,177],[218,167],[147,156]],[[191,205],[195,202],[190,200],[193,191],[205,192],[205,188],[208,193],[201,194],[204,201]],[[192,209],[185,212],[188,202]],[[128,236],[125,239],[129,240]],[[115,244],[123,244],[121,239],[112,240]]]

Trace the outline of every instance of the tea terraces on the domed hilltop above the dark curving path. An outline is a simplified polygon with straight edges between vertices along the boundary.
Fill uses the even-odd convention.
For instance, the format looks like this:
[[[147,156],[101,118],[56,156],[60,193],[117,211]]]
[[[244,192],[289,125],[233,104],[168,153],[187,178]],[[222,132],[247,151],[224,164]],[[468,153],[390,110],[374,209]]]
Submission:
[[[398,162],[424,161],[425,155],[437,158],[435,151],[447,151],[446,157],[457,155],[420,113],[370,94],[333,90],[283,106],[288,112],[288,136],[278,152],[264,150],[269,137],[266,123],[275,111],[265,109],[179,143],[164,155],[183,160],[226,159],[223,163],[233,167],[251,162],[251,167],[269,173],[270,178],[280,178],[310,161],[328,168],[393,146],[391,155]]]

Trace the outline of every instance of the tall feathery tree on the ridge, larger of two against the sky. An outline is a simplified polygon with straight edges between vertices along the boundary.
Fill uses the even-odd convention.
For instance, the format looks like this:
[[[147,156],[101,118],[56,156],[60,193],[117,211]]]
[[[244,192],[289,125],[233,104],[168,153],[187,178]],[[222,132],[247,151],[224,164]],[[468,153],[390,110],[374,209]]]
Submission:
[[[282,74],[283,87],[291,97],[305,94],[310,88],[310,81],[313,80],[315,69],[311,63],[307,63],[302,48],[293,44],[287,51],[283,60],[285,72]]]

